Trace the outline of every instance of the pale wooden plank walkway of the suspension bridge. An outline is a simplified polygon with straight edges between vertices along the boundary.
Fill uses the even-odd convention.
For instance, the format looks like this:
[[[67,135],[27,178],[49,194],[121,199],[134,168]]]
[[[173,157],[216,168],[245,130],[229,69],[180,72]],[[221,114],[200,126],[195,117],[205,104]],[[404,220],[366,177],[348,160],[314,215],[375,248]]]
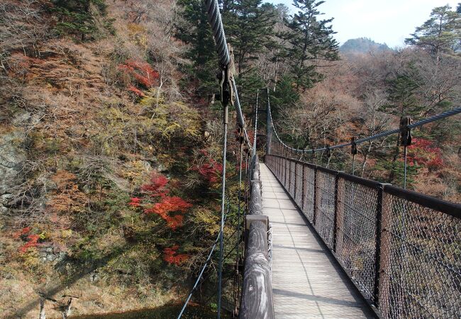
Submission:
[[[263,211],[272,223],[275,318],[374,318],[274,174],[262,163],[260,172]]]

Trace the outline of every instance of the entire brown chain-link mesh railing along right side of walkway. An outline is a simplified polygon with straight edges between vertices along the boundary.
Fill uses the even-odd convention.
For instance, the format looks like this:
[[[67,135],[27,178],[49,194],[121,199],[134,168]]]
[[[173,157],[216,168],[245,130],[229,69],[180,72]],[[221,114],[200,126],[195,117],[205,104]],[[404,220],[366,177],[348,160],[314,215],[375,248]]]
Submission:
[[[265,162],[383,318],[461,318],[460,205],[282,156]]]

